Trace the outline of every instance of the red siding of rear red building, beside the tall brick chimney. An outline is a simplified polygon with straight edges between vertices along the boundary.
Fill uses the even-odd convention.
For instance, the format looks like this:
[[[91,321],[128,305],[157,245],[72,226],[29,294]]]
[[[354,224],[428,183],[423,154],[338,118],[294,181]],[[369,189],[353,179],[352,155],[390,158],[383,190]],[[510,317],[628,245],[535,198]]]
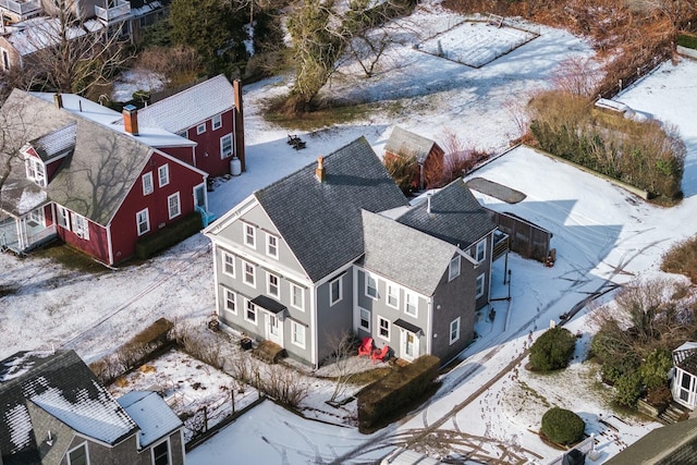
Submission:
[[[196,168],[206,171],[211,176],[220,176],[230,173],[230,160],[220,158],[220,138],[227,134],[233,134],[232,110],[222,113],[222,126],[213,131],[212,119],[206,120],[206,132],[196,134],[196,126],[189,127],[186,138],[194,140],[196,146]],[[234,134],[233,134],[234,140]],[[234,142],[233,142],[234,155]]]

